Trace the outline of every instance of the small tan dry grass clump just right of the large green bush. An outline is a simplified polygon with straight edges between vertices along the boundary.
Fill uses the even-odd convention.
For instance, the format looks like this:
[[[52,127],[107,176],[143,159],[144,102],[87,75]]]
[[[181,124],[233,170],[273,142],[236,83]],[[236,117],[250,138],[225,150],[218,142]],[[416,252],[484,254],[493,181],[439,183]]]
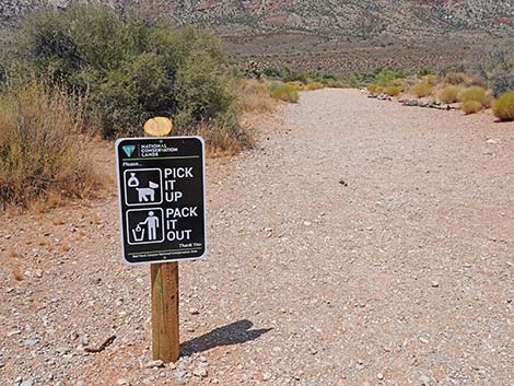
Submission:
[[[240,107],[248,113],[272,112],[277,102],[269,95],[266,83],[256,80],[240,81],[236,86]]]

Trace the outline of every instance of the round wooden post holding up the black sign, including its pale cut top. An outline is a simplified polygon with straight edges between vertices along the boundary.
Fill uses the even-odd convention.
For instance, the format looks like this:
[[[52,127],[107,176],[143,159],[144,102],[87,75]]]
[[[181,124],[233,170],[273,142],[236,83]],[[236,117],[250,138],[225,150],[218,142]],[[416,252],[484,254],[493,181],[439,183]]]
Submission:
[[[148,137],[172,132],[170,119],[155,117],[144,124]],[[150,266],[152,278],[152,356],[153,360],[176,362],[180,355],[178,335],[178,262]]]

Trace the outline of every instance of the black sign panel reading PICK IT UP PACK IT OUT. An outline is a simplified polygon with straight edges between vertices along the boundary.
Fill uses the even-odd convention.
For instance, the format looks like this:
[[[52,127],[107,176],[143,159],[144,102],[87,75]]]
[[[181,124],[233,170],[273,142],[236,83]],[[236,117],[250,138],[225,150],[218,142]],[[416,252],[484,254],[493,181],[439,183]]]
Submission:
[[[116,141],[121,245],[128,264],[206,256],[205,149],[199,137]]]

